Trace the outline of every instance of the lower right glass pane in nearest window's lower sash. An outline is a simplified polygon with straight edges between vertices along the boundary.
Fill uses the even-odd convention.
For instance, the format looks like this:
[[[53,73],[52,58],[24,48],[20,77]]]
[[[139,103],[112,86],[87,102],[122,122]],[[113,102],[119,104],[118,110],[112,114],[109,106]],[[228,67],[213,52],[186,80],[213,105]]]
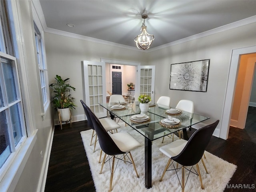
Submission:
[[[15,146],[18,144],[22,138],[22,129],[20,124],[20,113],[19,113],[19,103],[10,107],[10,116],[12,121],[12,131],[14,136]]]

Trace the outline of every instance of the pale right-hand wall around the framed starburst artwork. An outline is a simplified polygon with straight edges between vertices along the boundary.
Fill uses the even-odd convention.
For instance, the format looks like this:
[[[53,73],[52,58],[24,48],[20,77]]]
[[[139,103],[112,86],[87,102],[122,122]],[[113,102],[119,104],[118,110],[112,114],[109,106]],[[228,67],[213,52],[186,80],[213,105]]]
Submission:
[[[181,99],[194,101],[195,113],[220,120],[214,132],[220,136],[232,50],[256,45],[255,31],[256,23],[248,24],[151,52],[148,64],[156,65],[156,99],[161,95],[170,96],[171,106],[176,106]],[[170,64],[203,59],[210,59],[207,92],[169,89]]]

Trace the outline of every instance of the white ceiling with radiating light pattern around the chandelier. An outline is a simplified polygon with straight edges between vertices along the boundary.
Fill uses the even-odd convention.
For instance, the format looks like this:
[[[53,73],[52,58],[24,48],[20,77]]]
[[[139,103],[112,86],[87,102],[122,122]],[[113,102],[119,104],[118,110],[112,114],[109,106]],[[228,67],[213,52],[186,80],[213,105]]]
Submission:
[[[142,14],[147,14],[147,32],[155,38],[150,48],[256,15],[256,0],[40,0],[40,4],[47,28],[132,47],[141,33]]]

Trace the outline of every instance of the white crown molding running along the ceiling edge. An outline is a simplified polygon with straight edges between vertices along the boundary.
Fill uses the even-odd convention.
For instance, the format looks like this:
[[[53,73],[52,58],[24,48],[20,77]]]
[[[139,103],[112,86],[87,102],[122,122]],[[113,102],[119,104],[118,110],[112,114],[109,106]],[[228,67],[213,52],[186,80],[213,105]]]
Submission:
[[[245,18],[245,19],[242,19],[242,20],[239,20],[239,21],[236,21],[236,22],[224,25],[224,26],[220,26],[220,27],[212,29],[212,30],[208,30],[206,32],[202,32],[202,33],[190,36],[190,37],[186,37],[186,38],[174,41],[174,42],[170,42],[170,43],[158,46],[158,47],[150,48],[150,49],[147,49],[147,50],[141,50],[141,49],[138,49],[137,47],[126,46],[126,45],[122,45],[122,44],[118,44],[118,43],[108,42],[108,41],[104,41],[104,40],[100,40],[100,39],[96,39],[96,38],[91,38],[91,37],[87,37],[87,36],[82,36],[82,35],[78,35],[78,34],[73,34],[73,33],[64,32],[64,31],[61,31],[61,30],[48,28],[46,26],[46,22],[45,22],[45,19],[44,19],[44,14],[42,12],[42,7],[40,5],[40,2],[36,1],[36,0],[32,0],[32,2],[35,5],[36,12],[38,12],[40,21],[42,23],[42,26],[43,26],[45,32],[52,33],[52,34],[57,34],[57,35],[62,35],[62,36],[67,36],[67,37],[72,37],[72,38],[77,38],[77,39],[81,39],[81,40],[87,40],[87,41],[90,41],[90,42],[106,44],[106,45],[110,45],[110,46],[116,46],[116,47],[120,47],[120,48],[126,48],[126,49],[130,49],[130,50],[136,50],[136,51],[140,51],[140,52],[152,52],[152,51],[155,51],[155,50],[160,50],[162,48],[174,46],[176,44],[188,42],[188,41],[191,41],[191,40],[194,40],[194,39],[202,38],[202,37],[205,37],[205,36],[209,36],[209,35],[212,35],[212,34],[216,34],[216,33],[219,33],[219,32],[223,32],[223,31],[226,31],[226,30],[230,30],[230,29],[233,29],[233,28],[237,28],[237,27],[240,27],[240,26],[244,26],[244,25],[256,22],[256,16],[252,16],[252,17]],[[134,46],[135,46],[135,43],[134,43]]]

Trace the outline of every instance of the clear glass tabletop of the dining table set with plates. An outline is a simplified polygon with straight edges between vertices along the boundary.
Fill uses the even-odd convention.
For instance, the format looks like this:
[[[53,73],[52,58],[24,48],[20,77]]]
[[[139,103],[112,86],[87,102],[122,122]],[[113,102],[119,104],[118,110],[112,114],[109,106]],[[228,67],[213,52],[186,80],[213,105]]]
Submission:
[[[114,108],[113,106],[116,103],[104,103],[100,104],[100,106],[104,107],[106,110],[120,118],[126,124],[134,128],[134,130],[138,131],[144,137],[153,141],[168,134],[172,134],[174,132],[178,132],[184,128],[192,126],[198,122],[202,122],[208,117],[189,113],[186,111],[180,111],[176,114],[168,114],[166,110],[170,109],[168,106],[163,105],[154,105],[150,106],[148,112],[142,113],[140,112],[139,102],[134,102],[131,107],[123,104],[123,108]],[[144,118],[148,116],[145,120],[140,120],[140,118],[135,118],[136,114],[144,114]],[[133,117],[133,118],[132,118]],[[143,119],[144,119],[143,118]],[[172,118],[176,121],[176,124],[168,124],[163,120],[166,118]],[[139,122],[137,122],[139,121]],[[177,123],[180,121],[179,123]]]

